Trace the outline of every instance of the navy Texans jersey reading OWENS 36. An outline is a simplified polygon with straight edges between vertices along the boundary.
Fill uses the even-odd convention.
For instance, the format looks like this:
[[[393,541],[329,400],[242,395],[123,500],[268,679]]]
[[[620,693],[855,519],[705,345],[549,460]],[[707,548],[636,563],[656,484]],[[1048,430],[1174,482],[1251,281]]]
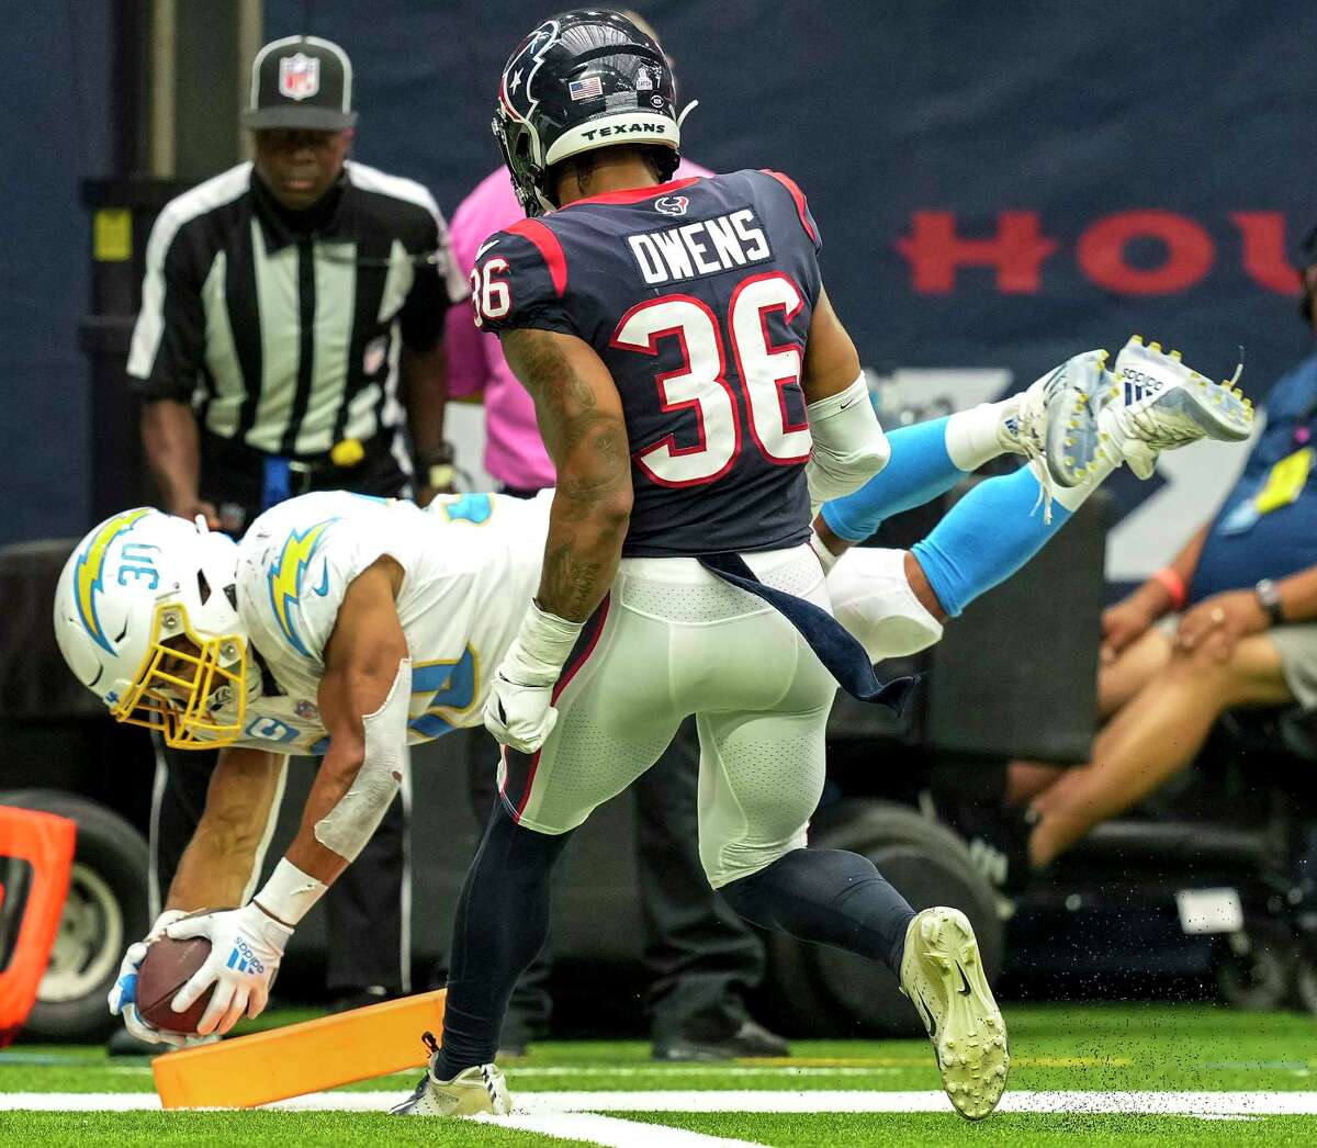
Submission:
[[[801,363],[819,246],[801,190],[770,171],[577,200],[481,246],[485,330],[573,334],[612,374],[635,488],[624,554],[809,537]]]

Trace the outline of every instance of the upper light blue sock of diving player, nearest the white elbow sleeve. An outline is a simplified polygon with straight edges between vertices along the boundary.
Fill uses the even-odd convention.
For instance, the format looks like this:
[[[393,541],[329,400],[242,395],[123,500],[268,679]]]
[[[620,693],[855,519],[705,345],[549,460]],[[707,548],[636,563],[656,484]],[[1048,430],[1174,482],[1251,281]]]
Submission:
[[[863,542],[884,519],[931,502],[965,473],[947,453],[948,419],[915,423],[888,434],[892,461],[853,494],[823,506],[823,521],[839,538]]]

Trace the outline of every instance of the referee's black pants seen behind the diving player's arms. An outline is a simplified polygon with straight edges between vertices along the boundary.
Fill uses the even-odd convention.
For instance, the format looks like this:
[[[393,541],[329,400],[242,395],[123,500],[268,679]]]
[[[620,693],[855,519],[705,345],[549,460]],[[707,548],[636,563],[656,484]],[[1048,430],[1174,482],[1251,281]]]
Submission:
[[[159,912],[202,819],[217,761],[219,750],[178,750],[155,741],[153,914]],[[345,994],[367,985],[383,985],[392,991],[411,989],[411,954],[403,951],[410,936],[404,904],[410,885],[406,804],[402,796],[394,799],[366,848],[325,894],[329,935],[325,985],[331,993]]]

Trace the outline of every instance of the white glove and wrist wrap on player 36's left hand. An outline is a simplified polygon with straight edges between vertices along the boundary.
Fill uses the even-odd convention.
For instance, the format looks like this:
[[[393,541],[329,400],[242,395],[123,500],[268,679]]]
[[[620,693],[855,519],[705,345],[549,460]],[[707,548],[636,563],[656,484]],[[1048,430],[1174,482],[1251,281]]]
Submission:
[[[485,728],[519,753],[535,753],[558,720],[553,686],[585,623],[545,613],[531,603],[522,629],[494,671]]]

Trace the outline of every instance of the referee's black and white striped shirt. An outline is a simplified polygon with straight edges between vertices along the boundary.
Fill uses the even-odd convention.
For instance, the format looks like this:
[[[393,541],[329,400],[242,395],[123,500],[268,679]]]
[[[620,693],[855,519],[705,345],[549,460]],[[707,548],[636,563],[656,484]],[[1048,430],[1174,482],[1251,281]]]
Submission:
[[[286,457],[403,424],[402,344],[428,350],[466,294],[419,183],[348,161],[312,230],[250,163],[170,201],[146,249],[128,374],[212,434]]]

